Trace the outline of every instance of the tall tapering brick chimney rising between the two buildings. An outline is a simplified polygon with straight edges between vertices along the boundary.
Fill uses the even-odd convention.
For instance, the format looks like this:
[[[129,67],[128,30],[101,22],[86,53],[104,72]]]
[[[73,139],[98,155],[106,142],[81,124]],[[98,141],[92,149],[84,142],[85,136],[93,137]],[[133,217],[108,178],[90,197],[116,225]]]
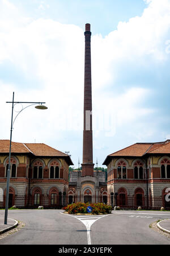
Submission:
[[[92,143],[92,94],[91,94],[91,31],[86,24],[85,63],[84,63],[84,129],[82,176],[94,176]]]

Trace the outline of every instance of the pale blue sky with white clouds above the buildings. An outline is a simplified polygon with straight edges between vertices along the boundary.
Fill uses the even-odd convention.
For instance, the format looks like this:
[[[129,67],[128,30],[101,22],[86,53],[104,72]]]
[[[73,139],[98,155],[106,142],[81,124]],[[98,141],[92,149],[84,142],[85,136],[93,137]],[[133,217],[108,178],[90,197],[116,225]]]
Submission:
[[[170,139],[170,0],[0,0],[1,139],[45,143],[82,163],[84,28],[91,24],[94,163]],[[14,117],[26,105],[16,104]],[[73,167],[73,166],[72,166]]]

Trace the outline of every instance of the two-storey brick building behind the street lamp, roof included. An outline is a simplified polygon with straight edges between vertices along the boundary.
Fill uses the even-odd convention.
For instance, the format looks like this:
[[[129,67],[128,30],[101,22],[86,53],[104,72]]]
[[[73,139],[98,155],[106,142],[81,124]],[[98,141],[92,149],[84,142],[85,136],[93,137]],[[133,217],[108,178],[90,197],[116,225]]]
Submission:
[[[5,207],[9,145],[10,141],[0,140],[1,208]],[[72,164],[69,155],[46,144],[12,142],[9,208],[66,205]]]

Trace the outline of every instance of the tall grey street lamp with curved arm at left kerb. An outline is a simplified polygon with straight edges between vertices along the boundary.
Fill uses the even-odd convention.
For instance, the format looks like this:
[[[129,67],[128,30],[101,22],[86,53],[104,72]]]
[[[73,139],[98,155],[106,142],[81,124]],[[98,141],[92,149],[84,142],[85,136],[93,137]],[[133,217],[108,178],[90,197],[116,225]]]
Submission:
[[[24,109],[28,108],[29,106],[32,105],[37,105],[35,106],[36,109],[48,109],[46,106],[42,105],[45,104],[45,102],[25,102],[25,101],[14,101],[14,92],[13,92],[13,97],[12,97],[12,101],[7,101],[6,103],[12,103],[12,115],[11,115],[11,133],[10,133],[10,151],[9,151],[9,160],[8,160],[8,170],[7,170],[7,184],[6,184],[6,202],[5,202],[5,220],[4,220],[4,224],[7,224],[7,214],[8,214],[8,198],[9,198],[9,187],[10,187],[10,170],[11,170],[11,141],[12,141],[12,129],[13,129],[13,125],[15,122],[16,117],[18,117],[18,115],[20,114],[20,112],[22,112]],[[14,122],[13,122],[13,111],[14,111],[14,106],[16,104],[31,104],[26,106],[25,108],[22,108],[22,110],[19,111],[19,113],[16,115]]]

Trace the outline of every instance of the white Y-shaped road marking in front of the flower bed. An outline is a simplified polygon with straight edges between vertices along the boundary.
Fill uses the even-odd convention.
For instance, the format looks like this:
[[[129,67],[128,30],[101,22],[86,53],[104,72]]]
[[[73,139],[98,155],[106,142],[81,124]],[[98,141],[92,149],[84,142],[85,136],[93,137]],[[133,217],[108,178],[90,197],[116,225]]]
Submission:
[[[62,213],[62,212],[60,212]],[[62,213],[62,214],[65,214],[65,213]],[[88,245],[91,245],[91,237],[90,237],[90,228],[91,226],[94,224],[95,221],[99,220],[100,218],[103,218],[105,216],[108,216],[110,214],[105,214],[105,215],[87,215],[87,216],[73,216],[73,215],[69,215],[69,214],[65,214],[66,216],[70,216],[70,217],[74,217],[76,218],[77,220],[81,221],[84,226],[86,226],[86,229],[87,229],[87,243]]]

